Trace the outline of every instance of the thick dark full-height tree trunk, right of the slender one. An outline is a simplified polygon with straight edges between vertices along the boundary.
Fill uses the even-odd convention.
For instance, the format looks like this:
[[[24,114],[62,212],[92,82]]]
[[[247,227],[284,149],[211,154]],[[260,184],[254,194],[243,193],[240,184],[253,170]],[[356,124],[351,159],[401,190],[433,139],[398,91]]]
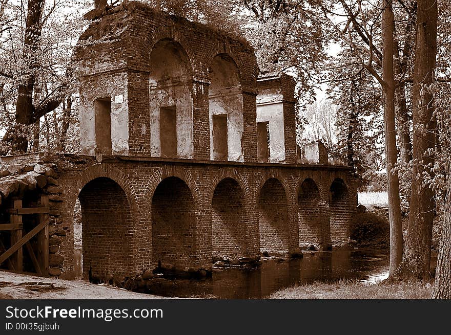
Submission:
[[[434,81],[436,66],[437,15],[436,0],[418,1],[412,94],[412,196],[404,257],[398,270],[398,275],[403,279],[429,279],[435,203],[433,190],[423,186],[423,174],[432,173],[428,166],[434,165],[434,158],[427,150],[433,148],[436,142],[434,96],[429,91],[429,85]]]

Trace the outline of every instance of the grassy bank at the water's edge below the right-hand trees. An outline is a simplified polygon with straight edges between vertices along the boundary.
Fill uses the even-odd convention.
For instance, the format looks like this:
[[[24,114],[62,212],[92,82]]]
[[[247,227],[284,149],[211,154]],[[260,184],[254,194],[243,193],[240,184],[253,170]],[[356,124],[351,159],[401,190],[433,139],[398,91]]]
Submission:
[[[429,299],[432,286],[421,283],[368,285],[356,279],[314,282],[273,293],[270,299]]]

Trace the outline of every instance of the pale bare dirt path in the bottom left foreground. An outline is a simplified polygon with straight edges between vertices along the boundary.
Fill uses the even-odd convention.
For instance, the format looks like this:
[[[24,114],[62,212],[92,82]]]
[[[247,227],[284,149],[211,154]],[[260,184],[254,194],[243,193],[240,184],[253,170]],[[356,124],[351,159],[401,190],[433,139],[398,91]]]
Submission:
[[[0,271],[0,299],[168,299],[81,280]]]

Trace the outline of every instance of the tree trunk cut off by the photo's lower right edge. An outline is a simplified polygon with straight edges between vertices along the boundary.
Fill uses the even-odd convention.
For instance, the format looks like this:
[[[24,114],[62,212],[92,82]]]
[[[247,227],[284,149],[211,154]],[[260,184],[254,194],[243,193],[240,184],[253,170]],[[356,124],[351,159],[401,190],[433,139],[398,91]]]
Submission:
[[[446,187],[437,273],[434,282],[434,299],[451,299],[451,179]]]

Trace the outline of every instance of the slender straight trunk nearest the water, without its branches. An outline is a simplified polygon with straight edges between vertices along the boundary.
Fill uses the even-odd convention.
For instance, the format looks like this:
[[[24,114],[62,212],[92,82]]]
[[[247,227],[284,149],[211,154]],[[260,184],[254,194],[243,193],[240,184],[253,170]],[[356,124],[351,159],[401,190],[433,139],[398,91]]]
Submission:
[[[392,275],[402,260],[402,225],[401,204],[399,199],[399,177],[394,170],[398,161],[395,126],[395,77],[393,69],[395,18],[392,1],[383,0],[382,13],[382,48],[383,48],[383,80],[384,80],[384,124],[385,124],[385,156],[387,160],[388,179],[388,218],[390,221],[390,265]]]

